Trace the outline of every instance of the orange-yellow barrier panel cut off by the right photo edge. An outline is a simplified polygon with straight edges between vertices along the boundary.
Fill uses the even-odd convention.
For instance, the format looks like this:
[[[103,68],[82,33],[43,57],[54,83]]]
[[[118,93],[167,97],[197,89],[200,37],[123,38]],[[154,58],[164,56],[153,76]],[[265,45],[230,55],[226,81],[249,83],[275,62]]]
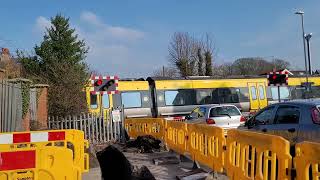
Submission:
[[[294,161],[297,180],[320,179],[320,143],[302,142],[297,144]]]

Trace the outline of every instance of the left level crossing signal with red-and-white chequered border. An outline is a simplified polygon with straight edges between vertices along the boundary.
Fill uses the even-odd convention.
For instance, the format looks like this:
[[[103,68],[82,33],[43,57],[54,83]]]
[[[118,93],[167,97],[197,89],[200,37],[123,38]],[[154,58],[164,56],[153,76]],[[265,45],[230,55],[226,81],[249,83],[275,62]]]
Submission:
[[[118,81],[117,76],[92,76],[91,84],[94,90],[91,94],[117,94]]]

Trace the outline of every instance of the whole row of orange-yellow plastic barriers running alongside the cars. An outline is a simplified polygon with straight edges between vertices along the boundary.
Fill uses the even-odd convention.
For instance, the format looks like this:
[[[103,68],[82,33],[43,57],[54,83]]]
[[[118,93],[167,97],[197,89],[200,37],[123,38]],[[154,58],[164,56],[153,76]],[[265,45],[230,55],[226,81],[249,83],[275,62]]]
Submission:
[[[293,161],[289,141],[276,135],[232,129],[225,136],[220,127],[160,118],[131,118],[125,126],[130,137],[153,135],[164,140],[169,149],[191,155],[213,171],[226,172],[230,179],[302,180],[320,176],[318,143],[297,144]]]

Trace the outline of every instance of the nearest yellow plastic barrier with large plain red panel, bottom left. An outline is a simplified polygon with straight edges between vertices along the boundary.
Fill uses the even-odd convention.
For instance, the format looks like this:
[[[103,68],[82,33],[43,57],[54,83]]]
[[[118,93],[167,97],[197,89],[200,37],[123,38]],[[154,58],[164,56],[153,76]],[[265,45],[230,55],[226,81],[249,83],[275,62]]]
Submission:
[[[72,151],[61,147],[30,147],[2,151],[0,180],[81,180]]]

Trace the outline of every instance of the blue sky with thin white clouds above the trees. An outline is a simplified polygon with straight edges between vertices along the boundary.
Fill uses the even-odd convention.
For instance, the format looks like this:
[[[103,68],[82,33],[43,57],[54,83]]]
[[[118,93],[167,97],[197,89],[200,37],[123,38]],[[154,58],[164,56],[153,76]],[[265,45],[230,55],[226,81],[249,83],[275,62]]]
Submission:
[[[1,2],[0,47],[31,51],[50,17],[70,17],[90,47],[86,61],[101,74],[146,77],[168,64],[168,44],[176,31],[209,32],[217,48],[214,63],[240,57],[278,57],[304,68],[300,18],[312,32],[312,62],[320,69],[320,1],[173,0],[10,0]]]

